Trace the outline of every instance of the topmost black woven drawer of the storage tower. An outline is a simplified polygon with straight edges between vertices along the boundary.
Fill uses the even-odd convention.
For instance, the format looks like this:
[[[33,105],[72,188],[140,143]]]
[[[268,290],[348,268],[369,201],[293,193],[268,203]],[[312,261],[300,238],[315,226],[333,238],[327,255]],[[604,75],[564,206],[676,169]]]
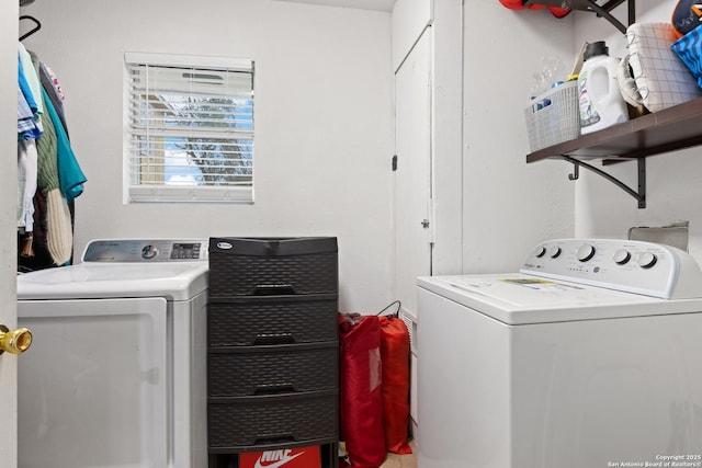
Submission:
[[[337,238],[211,238],[213,296],[336,294]]]

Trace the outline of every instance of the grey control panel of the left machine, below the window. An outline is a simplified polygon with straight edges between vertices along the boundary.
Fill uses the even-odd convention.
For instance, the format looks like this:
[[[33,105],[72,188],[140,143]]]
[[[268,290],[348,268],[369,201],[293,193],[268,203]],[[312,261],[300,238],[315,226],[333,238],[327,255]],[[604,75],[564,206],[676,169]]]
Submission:
[[[93,240],[83,262],[183,262],[207,260],[208,240],[113,239]]]

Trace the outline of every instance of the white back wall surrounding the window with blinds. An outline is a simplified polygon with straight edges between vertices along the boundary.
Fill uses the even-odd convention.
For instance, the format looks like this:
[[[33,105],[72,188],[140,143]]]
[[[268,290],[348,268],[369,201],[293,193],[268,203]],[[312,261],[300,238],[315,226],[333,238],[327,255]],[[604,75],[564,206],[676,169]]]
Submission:
[[[26,39],[59,77],[88,176],[76,249],[101,237],[337,236],[340,309],[390,297],[387,12],[271,0],[36,1]],[[122,204],[123,53],[256,60],[256,203]]]

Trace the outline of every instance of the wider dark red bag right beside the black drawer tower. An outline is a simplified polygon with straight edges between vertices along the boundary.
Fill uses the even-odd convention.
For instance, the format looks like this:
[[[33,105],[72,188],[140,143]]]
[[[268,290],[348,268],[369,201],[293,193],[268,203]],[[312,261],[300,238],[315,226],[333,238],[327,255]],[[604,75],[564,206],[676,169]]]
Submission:
[[[339,423],[352,467],[383,465],[381,322],[376,316],[339,315]]]

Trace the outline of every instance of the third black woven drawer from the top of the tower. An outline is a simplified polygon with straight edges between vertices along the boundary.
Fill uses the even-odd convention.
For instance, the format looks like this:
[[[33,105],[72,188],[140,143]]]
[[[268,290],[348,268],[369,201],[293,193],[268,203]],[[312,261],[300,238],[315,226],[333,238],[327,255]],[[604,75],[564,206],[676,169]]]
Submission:
[[[211,351],[210,397],[247,397],[332,390],[339,386],[337,342],[240,346]]]

